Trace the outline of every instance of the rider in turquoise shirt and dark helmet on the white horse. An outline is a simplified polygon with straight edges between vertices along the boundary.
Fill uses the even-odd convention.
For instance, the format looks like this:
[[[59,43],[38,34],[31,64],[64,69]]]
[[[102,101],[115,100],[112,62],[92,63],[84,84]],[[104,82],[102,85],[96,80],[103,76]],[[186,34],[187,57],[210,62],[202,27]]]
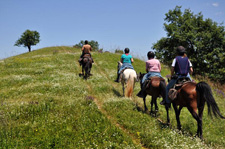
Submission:
[[[129,54],[130,49],[129,48],[125,48],[124,49],[124,53],[121,56],[120,62],[123,64],[120,69],[117,72],[117,79],[115,80],[115,82],[119,82],[119,78],[120,78],[120,73],[122,70],[126,69],[126,68],[130,68],[130,69],[134,69],[134,67],[132,66],[131,63],[134,62],[133,57]]]

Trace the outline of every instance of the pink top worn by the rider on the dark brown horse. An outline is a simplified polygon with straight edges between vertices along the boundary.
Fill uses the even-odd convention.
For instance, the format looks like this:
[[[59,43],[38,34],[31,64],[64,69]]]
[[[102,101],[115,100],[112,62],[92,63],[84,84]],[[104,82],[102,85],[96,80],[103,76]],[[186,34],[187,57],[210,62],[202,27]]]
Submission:
[[[161,71],[161,65],[159,60],[157,59],[149,59],[146,61],[146,70],[153,71],[153,72],[160,72]]]

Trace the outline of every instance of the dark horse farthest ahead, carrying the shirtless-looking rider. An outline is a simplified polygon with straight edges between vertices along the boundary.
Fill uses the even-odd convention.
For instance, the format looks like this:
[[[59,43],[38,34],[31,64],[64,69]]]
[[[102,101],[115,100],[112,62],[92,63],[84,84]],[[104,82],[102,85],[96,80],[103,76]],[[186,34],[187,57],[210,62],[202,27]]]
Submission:
[[[91,75],[92,58],[89,55],[87,56],[84,55],[81,64],[82,64],[82,74],[84,75],[84,79],[87,79]]]

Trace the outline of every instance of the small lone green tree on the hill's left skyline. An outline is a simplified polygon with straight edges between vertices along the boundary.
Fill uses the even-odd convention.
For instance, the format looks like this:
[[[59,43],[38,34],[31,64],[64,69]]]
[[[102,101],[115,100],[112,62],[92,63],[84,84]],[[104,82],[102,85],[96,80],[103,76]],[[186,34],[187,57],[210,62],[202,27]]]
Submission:
[[[40,42],[40,34],[37,31],[26,30],[21,37],[16,41],[14,46],[27,47],[29,52],[31,52],[31,46],[36,45]]]

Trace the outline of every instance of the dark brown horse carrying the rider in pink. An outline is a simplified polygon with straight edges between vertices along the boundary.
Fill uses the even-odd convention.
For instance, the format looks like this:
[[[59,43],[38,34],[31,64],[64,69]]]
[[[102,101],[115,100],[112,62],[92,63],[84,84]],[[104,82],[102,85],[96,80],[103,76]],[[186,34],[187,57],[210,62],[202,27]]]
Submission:
[[[140,85],[142,87],[142,78],[145,74],[142,74],[140,72],[139,74],[139,79],[140,79]],[[152,96],[152,100],[151,100],[151,111],[150,111],[150,114],[153,114],[153,113],[157,113],[158,112],[158,105],[157,105],[157,98],[158,97],[162,97],[163,99],[166,98],[166,82],[163,78],[160,78],[160,77],[151,77],[149,79],[149,81],[146,81],[144,83],[144,90],[143,90],[143,102],[144,102],[144,108],[145,108],[145,112],[148,111],[148,108],[146,106],[146,97],[147,95],[150,95]],[[155,105],[155,111],[153,111],[153,105]],[[166,108],[166,111],[169,110],[169,107],[168,106],[165,106]],[[167,112],[168,113],[168,112]],[[169,119],[167,120],[167,123],[169,123]]]

